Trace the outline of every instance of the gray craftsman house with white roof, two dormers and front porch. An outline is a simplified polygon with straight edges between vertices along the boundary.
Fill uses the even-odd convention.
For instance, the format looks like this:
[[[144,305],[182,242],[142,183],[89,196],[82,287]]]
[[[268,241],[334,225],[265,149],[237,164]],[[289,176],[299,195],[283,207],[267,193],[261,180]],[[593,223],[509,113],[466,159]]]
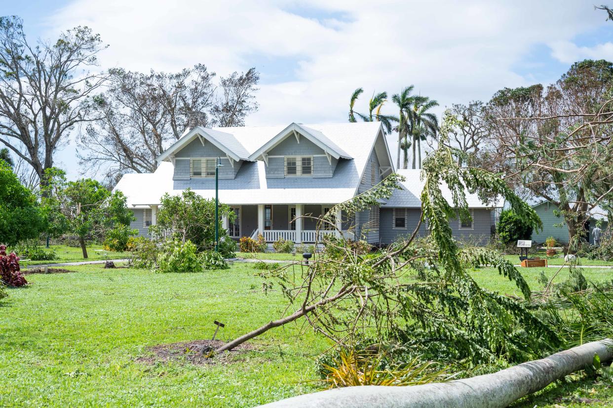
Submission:
[[[289,126],[202,128],[186,132],[158,157],[151,174],[126,174],[116,185],[128,197],[136,221],[132,228],[147,236],[156,223],[164,193],[186,188],[215,198],[215,163],[219,201],[232,207],[236,220],[224,220],[232,238],[262,234],[312,243],[321,234],[343,234],[371,244],[389,244],[412,232],[419,217],[419,171],[402,171],[407,182],[388,202],[352,217],[337,214],[337,229],[319,231],[316,218],[379,183],[394,171],[379,122]],[[421,190],[420,190],[421,191]],[[492,209],[474,204],[474,218],[460,223],[459,234],[489,238]],[[403,218],[404,217],[404,218]],[[410,230],[410,231],[409,231]],[[426,230],[424,229],[424,234]]]

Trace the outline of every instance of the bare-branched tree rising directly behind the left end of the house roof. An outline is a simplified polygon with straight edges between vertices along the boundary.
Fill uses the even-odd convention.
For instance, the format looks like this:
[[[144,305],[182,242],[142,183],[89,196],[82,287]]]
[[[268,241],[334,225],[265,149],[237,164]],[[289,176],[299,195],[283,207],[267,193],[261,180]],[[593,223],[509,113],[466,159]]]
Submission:
[[[107,180],[126,172],[153,172],[156,157],[194,126],[240,126],[257,109],[255,69],[221,78],[223,97],[213,82],[215,72],[198,64],[175,74],[111,71],[109,89],[94,98],[101,117],[79,140],[80,162]]]

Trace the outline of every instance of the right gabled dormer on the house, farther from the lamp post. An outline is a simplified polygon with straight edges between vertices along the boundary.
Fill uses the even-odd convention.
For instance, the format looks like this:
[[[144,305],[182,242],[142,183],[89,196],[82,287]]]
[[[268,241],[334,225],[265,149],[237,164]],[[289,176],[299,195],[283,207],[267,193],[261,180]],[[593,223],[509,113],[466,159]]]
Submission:
[[[249,156],[262,160],[267,178],[332,177],[339,160],[351,160],[320,131],[292,123]]]

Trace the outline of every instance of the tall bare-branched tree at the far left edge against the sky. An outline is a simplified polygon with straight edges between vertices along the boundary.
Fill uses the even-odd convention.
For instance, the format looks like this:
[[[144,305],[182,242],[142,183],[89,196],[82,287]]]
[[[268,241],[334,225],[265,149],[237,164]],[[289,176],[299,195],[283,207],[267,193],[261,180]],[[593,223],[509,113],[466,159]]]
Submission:
[[[88,70],[104,48],[98,34],[81,26],[32,45],[21,18],[0,17],[0,142],[41,181],[75,126],[95,119],[89,96],[106,75]]]

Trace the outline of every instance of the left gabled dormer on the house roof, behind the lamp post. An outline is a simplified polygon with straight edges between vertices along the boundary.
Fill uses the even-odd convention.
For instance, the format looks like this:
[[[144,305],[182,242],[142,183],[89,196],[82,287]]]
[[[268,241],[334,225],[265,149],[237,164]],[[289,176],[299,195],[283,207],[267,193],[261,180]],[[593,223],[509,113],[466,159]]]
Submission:
[[[234,179],[248,156],[234,135],[196,126],[159,155],[158,162],[172,163],[173,180],[199,180],[215,178],[215,163],[220,158],[219,178]]]

